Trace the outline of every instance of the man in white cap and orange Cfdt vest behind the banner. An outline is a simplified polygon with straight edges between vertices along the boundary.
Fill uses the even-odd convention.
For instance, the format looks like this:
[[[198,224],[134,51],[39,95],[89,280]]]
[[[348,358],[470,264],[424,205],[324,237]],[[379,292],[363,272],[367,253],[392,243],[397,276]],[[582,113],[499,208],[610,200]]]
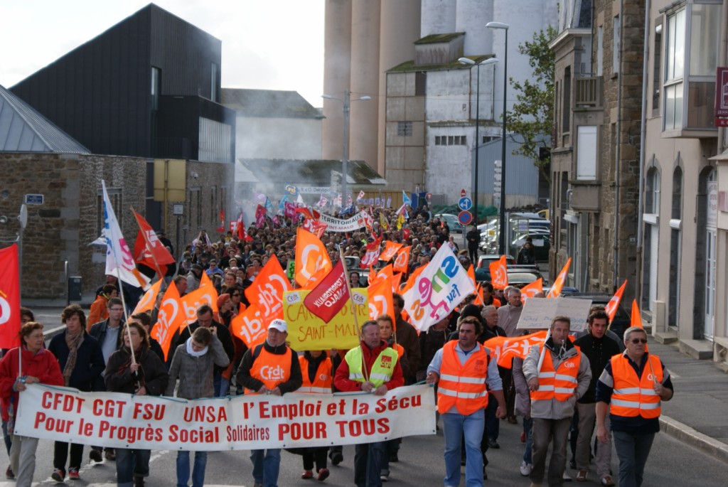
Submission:
[[[237,383],[245,387],[245,394],[272,394],[281,396],[293,392],[303,384],[298,356],[285,344],[288,325],[273,320],[268,325],[268,336],[262,344],[248,349],[237,369]],[[280,470],[280,448],[253,450],[253,487],[277,487]]]

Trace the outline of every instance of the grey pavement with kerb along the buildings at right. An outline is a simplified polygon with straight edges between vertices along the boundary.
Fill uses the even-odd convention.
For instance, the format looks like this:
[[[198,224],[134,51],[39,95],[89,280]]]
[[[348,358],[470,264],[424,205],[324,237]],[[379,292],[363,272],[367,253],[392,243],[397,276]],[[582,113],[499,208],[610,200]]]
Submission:
[[[682,355],[651,336],[649,352],[660,356],[675,387],[662,403],[660,431],[728,463],[728,375],[712,360]]]

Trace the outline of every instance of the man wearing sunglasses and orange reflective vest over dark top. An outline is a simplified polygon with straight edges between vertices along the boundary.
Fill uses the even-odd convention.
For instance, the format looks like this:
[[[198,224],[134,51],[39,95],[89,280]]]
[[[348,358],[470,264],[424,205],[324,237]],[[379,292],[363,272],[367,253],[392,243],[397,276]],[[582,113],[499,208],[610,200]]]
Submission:
[[[647,352],[643,328],[628,328],[625,346],[624,353],[609,360],[596,384],[596,435],[602,444],[609,440],[609,411],[620,487],[639,487],[654,434],[660,431],[660,403],[672,399],[673,383],[660,357]]]

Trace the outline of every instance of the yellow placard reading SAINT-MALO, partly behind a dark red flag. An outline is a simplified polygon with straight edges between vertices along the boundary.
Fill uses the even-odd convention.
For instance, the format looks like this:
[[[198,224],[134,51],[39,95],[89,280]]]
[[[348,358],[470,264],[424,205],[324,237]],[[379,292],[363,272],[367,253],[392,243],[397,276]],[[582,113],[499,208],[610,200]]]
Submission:
[[[369,303],[365,288],[352,289],[352,299],[339,314],[326,323],[304,306],[310,291],[293,290],[283,293],[283,319],[288,323],[290,348],[304,350],[347,350],[359,345],[357,327],[352,316],[352,299],[359,326],[369,319]]]

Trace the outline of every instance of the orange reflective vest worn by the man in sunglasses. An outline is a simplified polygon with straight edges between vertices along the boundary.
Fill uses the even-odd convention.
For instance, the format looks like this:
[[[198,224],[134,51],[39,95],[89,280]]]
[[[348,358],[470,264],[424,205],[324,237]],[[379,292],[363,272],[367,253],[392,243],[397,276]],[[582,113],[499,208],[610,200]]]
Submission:
[[[647,355],[647,359],[649,363],[644,364],[642,376],[638,377],[627,357],[612,357],[614,389],[609,404],[610,413],[615,416],[642,416],[645,419],[660,416],[660,396],[654,392],[654,382],[662,384],[662,363],[657,355]]]

